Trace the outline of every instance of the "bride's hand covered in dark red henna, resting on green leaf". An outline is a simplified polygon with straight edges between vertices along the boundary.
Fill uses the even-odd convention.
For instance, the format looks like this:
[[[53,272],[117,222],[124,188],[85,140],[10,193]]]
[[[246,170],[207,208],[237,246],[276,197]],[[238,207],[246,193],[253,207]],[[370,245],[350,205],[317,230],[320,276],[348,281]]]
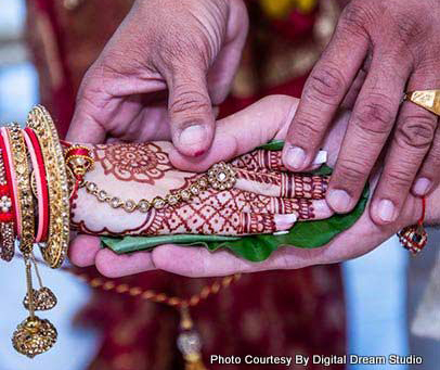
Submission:
[[[169,142],[89,148],[94,167],[86,175],[72,212],[73,225],[82,233],[271,233],[289,229],[297,219],[333,214],[324,200],[328,178],[287,173],[281,152],[256,150],[230,166],[218,166],[219,174],[210,179],[224,184],[230,176],[236,180],[231,189],[215,189],[206,175],[171,165]]]

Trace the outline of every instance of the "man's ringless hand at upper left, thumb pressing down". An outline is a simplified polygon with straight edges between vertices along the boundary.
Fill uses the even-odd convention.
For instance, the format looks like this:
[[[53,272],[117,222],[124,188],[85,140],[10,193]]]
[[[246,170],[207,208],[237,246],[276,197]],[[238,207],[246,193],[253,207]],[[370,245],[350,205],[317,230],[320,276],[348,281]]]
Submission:
[[[247,28],[242,0],[138,0],[86,74],[67,139],[171,137],[182,154],[202,155]]]

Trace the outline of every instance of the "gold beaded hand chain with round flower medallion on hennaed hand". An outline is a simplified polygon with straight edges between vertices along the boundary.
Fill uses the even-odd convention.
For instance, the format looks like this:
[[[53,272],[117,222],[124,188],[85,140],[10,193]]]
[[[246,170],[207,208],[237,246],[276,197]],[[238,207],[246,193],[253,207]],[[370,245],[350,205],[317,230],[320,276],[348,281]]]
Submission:
[[[105,190],[100,189],[95,182],[87,180],[83,181],[81,186],[86,188],[86,191],[89,194],[94,195],[100,202],[108,203],[112,208],[122,208],[128,213],[134,210],[146,213],[152,207],[155,209],[161,209],[167,205],[176,205],[180,202],[189,202],[193,196],[198,195],[208,187],[220,191],[231,189],[234,186],[235,181],[236,174],[234,168],[230,164],[220,162],[208,169],[207,174],[204,174],[197,179],[193,180],[187,188],[171,192],[165,197],[156,196],[152,201],[124,201],[119,196],[111,195]]]

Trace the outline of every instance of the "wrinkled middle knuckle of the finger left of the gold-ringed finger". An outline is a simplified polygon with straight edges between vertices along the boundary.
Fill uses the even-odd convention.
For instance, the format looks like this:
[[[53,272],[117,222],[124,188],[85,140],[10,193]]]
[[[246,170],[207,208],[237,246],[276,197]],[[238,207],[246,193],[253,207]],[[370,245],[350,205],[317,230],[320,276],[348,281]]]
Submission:
[[[386,135],[394,120],[394,113],[390,106],[391,103],[386,95],[371,97],[357,112],[354,124],[371,135]]]

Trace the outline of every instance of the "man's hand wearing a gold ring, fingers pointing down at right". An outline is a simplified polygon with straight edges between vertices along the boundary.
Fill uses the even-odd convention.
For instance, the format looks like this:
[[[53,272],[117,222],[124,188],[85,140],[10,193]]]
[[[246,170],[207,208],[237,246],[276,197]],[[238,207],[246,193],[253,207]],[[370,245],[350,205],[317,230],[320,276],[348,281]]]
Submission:
[[[432,113],[401,100],[440,88],[440,2],[352,0],[311,73],[293,119],[284,163],[308,166],[339,107],[352,109],[327,201],[338,213],[357,204],[386,142],[385,167],[371,202],[377,225],[398,219],[410,189],[424,195],[440,179],[440,131]]]

